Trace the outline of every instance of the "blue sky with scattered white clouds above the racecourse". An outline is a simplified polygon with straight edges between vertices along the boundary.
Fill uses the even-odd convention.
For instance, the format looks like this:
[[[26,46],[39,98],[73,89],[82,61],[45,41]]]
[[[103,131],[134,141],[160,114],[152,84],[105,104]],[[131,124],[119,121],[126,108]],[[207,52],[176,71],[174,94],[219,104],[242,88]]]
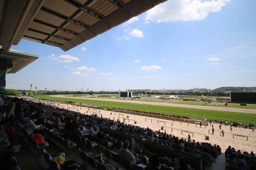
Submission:
[[[70,49],[22,39],[39,58],[6,88],[191,89],[256,86],[256,0],[167,0]]]

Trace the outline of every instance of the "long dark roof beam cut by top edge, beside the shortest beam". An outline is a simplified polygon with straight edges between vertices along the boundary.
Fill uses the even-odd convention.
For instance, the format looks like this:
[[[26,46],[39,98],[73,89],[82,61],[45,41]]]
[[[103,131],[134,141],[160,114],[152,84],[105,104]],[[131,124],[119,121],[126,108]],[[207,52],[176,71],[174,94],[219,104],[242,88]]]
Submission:
[[[84,5],[80,2],[78,2],[77,0],[64,0],[68,3],[70,3],[71,5],[89,13],[90,15],[93,15],[94,17],[100,19],[100,20],[104,20],[106,17],[101,15],[100,13],[96,12],[95,10],[89,8],[87,5]]]

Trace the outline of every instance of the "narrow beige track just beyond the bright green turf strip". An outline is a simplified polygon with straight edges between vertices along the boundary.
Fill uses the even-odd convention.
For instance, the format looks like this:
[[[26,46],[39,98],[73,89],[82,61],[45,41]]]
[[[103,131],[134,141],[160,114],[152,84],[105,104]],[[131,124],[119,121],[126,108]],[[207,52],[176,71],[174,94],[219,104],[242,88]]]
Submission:
[[[146,105],[158,105],[158,106],[169,106],[178,108],[190,108],[190,109],[203,109],[212,111],[224,111],[224,112],[236,112],[236,113],[252,113],[256,114],[256,109],[243,109],[243,108],[228,108],[228,107],[216,107],[216,106],[200,106],[200,105],[187,105],[187,104],[175,104],[175,103],[160,103],[160,102],[145,102],[145,101],[134,101],[134,100],[113,100],[113,99],[102,99],[102,98],[90,98],[90,97],[72,97],[64,95],[51,95],[52,97],[62,98],[73,98],[73,99],[87,99],[87,100],[101,100],[111,102],[123,102],[123,103],[136,103]]]

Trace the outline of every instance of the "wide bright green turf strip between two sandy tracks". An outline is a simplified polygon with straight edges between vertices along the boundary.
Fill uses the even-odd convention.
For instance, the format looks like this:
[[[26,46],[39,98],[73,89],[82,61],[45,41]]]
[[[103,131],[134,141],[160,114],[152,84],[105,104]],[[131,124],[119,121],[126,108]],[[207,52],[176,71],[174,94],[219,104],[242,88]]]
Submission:
[[[211,111],[211,110],[200,110],[200,109],[190,109],[190,108],[178,108],[169,106],[156,106],[156,105],[145,105],[145,104],[135,104],[135,103],[123,103],[123,102],[112,102],[112,101],[101,101],[101,100],[88,100],[88,99],[74,99],[74,98],[62,98],[62,97],[52,97],[48,95],[36,95],[36,98],[56,100],[56,101],[72,101],[78,103],[85,103],[89,105],[97,106],[107,106],[116,107],[123,109],[131,109],[138,111],[149,111],[155,113],[166,113],[166,114],[176,114],[176,115],[186,115],[195,118],[202,118],[202,114],[205,118],[212,120],[237,120],[237,122],[252,122],[256,124],[256,114],[248,113],[233,113],[233,112],[222,112],[222,111]]]

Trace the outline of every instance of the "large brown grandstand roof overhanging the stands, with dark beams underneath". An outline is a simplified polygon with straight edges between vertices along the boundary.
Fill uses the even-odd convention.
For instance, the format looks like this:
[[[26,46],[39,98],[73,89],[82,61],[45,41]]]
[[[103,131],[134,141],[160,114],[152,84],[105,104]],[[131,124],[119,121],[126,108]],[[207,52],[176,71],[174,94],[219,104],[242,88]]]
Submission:
[[[0,45],[21,38],[67,51],[166,0],[0,0]]]

